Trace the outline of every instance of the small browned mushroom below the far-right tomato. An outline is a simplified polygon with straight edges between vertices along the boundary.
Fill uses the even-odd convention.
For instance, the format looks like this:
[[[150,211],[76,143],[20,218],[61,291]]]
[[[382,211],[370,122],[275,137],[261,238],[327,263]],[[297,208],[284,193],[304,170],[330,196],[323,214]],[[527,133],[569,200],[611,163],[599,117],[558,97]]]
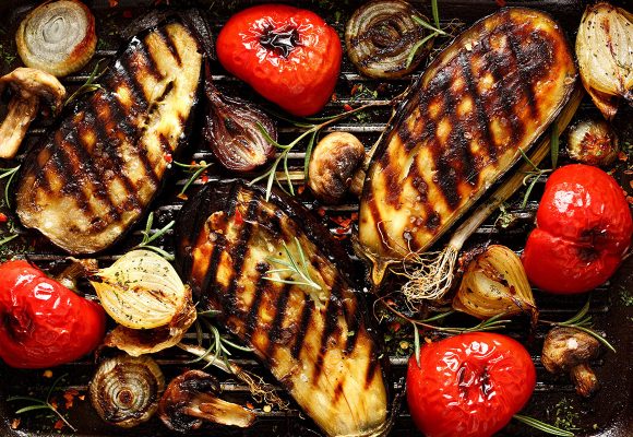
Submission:
[[[575,328],[554,328],[547,334],[541,363],[552,374],[569,373],[576,392],[589,397],[598,390],[598,378],[589,367],[600,343],[594,336]]]

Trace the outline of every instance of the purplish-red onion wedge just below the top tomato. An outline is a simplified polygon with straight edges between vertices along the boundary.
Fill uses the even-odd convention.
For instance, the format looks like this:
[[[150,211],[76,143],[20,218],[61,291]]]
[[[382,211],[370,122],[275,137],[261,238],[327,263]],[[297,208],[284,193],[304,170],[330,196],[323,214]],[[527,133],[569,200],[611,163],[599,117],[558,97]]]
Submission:
[[[250,172],[265,164],[275,146],[260,129],[276,141],[273,120],[252,103],[223,95],[208,76],[204,90],[207,113],[203,134],[217,161],[235,172]]]

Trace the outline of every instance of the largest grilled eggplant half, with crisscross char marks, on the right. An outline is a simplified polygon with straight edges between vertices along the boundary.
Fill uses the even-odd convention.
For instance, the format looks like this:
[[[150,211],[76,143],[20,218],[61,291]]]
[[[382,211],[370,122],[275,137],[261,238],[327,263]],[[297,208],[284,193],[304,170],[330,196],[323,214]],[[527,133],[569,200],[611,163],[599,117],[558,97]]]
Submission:
[[[576,76],[561,28],[529,9],[482,19],[438,56],[368,170],[359,243],[374,284],[390,263],[429,248],[536,142]]]

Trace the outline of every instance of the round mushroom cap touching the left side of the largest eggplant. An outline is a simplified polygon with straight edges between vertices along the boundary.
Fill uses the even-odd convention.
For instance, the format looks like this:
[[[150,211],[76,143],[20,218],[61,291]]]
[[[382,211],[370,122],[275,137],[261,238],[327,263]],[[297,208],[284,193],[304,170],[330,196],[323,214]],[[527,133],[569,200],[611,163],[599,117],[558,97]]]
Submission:
[[[341,202],[350,190],[360,194],[365,172],[365,146],[351,133],[332,132],[312,152],[308,186],[314,197],[327,204]]]

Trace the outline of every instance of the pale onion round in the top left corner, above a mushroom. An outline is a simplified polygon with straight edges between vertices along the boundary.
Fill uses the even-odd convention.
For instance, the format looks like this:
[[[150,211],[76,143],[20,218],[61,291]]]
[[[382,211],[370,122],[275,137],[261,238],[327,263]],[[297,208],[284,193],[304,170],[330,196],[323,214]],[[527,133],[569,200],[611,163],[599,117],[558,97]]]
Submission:
[[[27,67],[67,75],[83,68],[95,54],[95,17],[77,0],[46,2],[20,23],[15,43]]]

